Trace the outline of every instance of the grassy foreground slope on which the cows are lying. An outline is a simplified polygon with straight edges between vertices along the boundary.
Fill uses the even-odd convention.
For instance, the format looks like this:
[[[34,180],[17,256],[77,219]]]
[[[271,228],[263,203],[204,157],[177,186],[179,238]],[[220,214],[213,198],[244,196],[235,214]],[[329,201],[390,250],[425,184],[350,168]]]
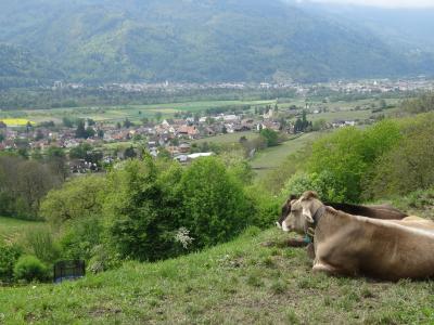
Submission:
[[[279,230],[61,285],[0,289],[4,324],[433,324],[434,283],[312,274]],[[265,247],[271,242],[276,245]]]

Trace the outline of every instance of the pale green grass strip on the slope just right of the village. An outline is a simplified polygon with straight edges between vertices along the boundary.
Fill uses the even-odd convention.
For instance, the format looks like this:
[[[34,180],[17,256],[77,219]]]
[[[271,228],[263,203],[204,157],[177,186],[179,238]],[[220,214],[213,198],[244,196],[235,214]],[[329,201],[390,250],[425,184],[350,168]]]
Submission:
[[[258,179],[267,174],[270,169],[280,166],[284,159],[304,147],[307,143],[312,142],[321,133],[311,132],[297,136],[293,140],[283,142],[282,144],[269,147],[259,152],[252,160],[251,165],[256,170]]]

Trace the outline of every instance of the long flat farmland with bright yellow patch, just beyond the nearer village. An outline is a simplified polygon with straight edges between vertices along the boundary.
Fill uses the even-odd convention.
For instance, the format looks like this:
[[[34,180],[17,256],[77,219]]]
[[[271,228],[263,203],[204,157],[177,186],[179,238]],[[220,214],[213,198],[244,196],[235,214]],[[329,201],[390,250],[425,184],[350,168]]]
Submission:
[[[207,101],[186,102],[152,105],[120,105],[120,106],[93,106],[74,108],[49,109],[22,109],[13,112],[15,117],[29,118],[36,122],[53,120],[60,122],[63,117],[92,118],[97,121],[116,122],[125,120],[139,121],[143,117],[154,118],[156,113],[162,113],[163,118],[171,117],[177,112],[200,112],[208,108],[242,106],[242,105],[268,105],[276,101]],[[7,118],[10,113],[0,112],[0,118]]]

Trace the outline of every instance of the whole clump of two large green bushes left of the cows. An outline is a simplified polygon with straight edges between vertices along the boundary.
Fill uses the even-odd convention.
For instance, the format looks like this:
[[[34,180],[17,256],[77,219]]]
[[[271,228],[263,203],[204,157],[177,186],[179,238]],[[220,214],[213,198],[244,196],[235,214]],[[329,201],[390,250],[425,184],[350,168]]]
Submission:
[[[253,219],[238,171],[215,157],[186,169],[151,158],[126,162],[108,177],[108,246],[123,259],[153,261],[232,238]]]

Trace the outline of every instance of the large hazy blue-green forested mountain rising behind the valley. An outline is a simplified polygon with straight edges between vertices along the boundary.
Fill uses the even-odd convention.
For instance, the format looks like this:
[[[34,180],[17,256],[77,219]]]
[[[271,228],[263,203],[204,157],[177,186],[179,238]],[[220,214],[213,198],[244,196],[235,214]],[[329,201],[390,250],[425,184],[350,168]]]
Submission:
[[[0,3],[0,42],[50,62],[33,65],[36,79],[52,77],[48,67],[56,79],[86,82],[317,81],[434,69],[431,54],[407,55],[370,29],[279,0],[12,0]],[[16,76],[28,72],[25,63]]]

